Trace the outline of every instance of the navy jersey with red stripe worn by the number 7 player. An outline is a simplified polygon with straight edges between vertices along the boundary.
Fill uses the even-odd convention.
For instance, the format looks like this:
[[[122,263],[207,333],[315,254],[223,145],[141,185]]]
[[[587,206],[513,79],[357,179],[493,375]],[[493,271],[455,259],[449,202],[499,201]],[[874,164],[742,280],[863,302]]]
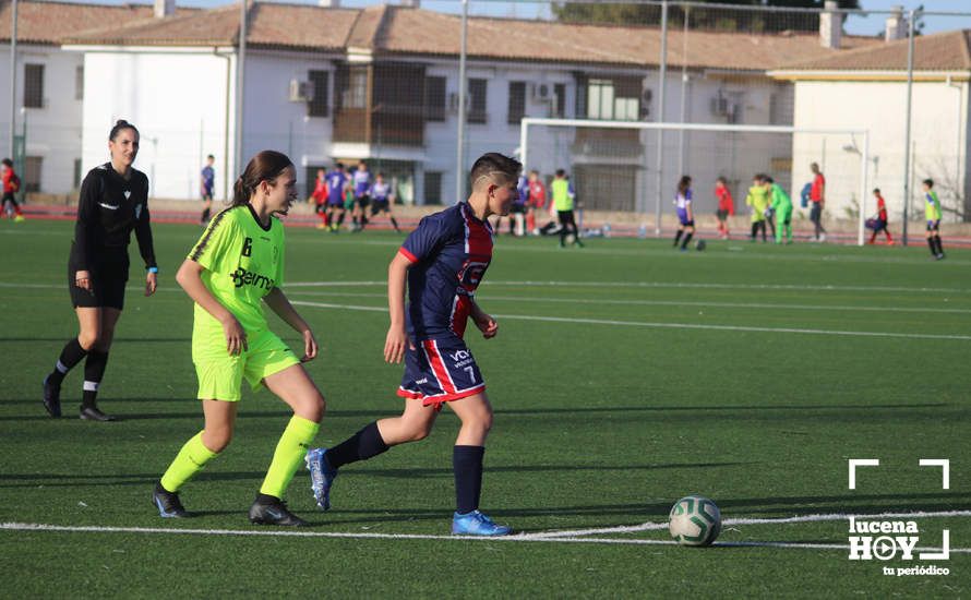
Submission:
[[[408,335],[412,340],[461,337],[471,299],[492,262],[492,227],[463,202],[421,219],[398,252],[412,263]]]

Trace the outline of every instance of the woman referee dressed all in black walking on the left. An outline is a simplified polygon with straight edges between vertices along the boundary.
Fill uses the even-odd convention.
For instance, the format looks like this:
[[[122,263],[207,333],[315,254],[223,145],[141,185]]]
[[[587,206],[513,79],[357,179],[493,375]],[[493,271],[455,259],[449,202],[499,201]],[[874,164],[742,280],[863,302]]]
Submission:
[[[44,379],[44,407],[51,417],[61,416],[64,375],[86,358],[81,418],[115,420],[98,409],[97,394],[115,326],[124,308],[132,230],[145,261],[145,296],[155,293],[158,266],[148,224],[148,178],[132,168],[139,154],[135,125],[123,120],[116,122],[108,135],[108,149],[111,161],[88,171],[81,184],[77,223],[68,259],[68,287],[81,331],[64,345],[53,371]]]

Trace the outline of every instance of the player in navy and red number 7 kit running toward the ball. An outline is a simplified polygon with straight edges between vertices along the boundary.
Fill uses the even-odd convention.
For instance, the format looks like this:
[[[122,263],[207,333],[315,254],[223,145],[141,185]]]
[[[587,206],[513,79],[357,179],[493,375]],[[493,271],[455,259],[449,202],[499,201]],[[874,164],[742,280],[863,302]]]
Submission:
[[[372,458],[388,447],[423,440],[444,403],[461,420],[452,455],[456,512],[452,532],[505,536],[479,512],[482,458],[492,428],[492,406],[485,383],[463,340],[471,317],[482,335],[495,336],[499,325],[475,301],[475,292],[492,261],[490,215],[507,215],[518,195],[522,170],[516,160],[490,153],[471,170],[472,193],[467,202],[421,219],[391,262],[387,297],[391,327],[384,344],[387,362],[405,359],[398,395],[405,398],[399,417],[373,421],[332,448],[307,455],[314,499],[331,507],[331,485],[337,469]],[[405,281],[409,302],[405,305]]]

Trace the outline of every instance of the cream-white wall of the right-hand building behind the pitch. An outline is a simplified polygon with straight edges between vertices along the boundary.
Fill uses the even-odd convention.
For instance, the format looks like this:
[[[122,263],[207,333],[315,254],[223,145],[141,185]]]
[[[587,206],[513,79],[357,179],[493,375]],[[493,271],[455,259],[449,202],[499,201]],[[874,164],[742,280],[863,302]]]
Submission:
[[[798,82],[795,127],[870,130],[868,189],[880,188],[892,220],[903,211],[907,86],[902,82]],[[919,82],[913,86],[914,177],[937,182],[942,203],[956,202],[955,189],[963,190],[967,173],[968,84]],[[863,148],[863,140],[855,140]],[[843,149],[852,146],[847,135],[798,134],[793,140],[793,179],[810,181],[808,166],[817,161],[827,179],[827,211],[838,216],[860,195],[860,156]],[[824,152],[825,148],[825,152]],[[919,199],[916,199],[919,200]],[[867,193],[865,213],[875,208]],[[912,207],[923,215],[923,206]],[[913,212],[912,212],[913,214]]]

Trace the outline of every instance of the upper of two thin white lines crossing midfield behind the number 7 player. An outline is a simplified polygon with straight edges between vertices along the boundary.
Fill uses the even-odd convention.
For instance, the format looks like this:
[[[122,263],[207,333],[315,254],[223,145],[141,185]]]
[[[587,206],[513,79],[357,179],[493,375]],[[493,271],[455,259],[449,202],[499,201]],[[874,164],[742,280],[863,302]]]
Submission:
[[[299,296],[331,296],[340,298],[387,298],[386,293],[355,293],[345,291],[297,291]],[[487,302],[551,302],[562,304],[607,304],[621,307],[694,307],[716,309],[784,309],[784,310],[835,310],[866,312],[915,312],[969,314],[971,309],[932,309],[925,307],[848,307],[838,304],[778,304],[763,302],[681,302],[678,300],[594,300],[590,298],[540,298],[531,296],[483,296],[477,299]]]

